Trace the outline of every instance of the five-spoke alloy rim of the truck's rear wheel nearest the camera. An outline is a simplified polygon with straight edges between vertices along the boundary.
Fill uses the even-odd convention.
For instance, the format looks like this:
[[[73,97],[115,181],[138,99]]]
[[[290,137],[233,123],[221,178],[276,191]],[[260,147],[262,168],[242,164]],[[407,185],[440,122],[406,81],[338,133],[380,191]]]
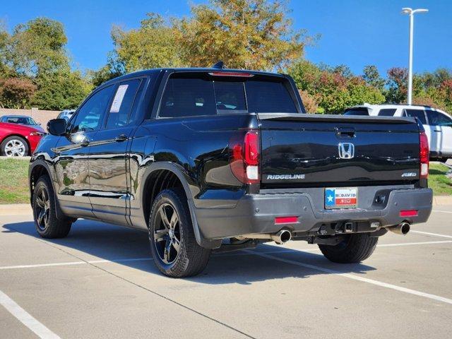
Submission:
[[[181,249],[181,233],[179,215],[169,203],[163,203],[157,210],[153,236],[160,260],[165,264],[174,263]]]

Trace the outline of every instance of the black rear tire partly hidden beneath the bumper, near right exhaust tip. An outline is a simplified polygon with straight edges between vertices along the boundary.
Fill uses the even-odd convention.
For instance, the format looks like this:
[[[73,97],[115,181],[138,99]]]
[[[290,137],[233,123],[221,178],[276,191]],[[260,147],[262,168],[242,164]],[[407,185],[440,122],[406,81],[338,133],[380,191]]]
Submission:
[[[378,241],[378,237],[370,237],[368,233],[355,233],[348,234],[335,246],[319,244],[319,248],[333,263],[359,263],[371,256]]]

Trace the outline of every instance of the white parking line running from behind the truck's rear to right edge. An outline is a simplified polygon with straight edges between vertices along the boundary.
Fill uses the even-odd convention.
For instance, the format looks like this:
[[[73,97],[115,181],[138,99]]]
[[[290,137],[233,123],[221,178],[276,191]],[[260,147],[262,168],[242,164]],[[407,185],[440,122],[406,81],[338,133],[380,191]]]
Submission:
[[[378,281],[378,280],[373,280],[373,279],[369,279],[369,278],[359,277],[358,275],[354,275],[354,274],[351,274],[351,273],[343,273],[343,272],[340,272],[338,270],[331,270],[330,268],[324,268],[324,267],[321,267],[321,266],[311,265],[309,263],[300,263],[299,261],[294,261],[294,260],[285,259],[285,258],[279,258],[278,256],[272,256],[270,254],[259,253],[259,252],[256,252],[256,251],[250,251],[249,249],[246,249],[245,251],[249,251],[251,254],[254,254],[255,256],[262,256],[263,258],[268,258],[268,259],[273,259],[273,260],[277,260],[277,261],[282,261],[283,263],[290,263],[292,265],[301,266],[301,267],[304,267],[304,268],[311,268],[312,270],[319,270],[320,272],[323,272],[323,273],[340,275],[340,276],[342,276],[344,278],[358,280],[358,281],[362,281],[364,283],[369,283],[369,284],[377,285],[377,286],[380,286],[380,287],[386,287],[386,288],[389,288],[391,290],[396,290],[396,291],[399,291],[399,292],[409,293],[410,295],[417,295],[419,297],[425,297],[425,298],[433,299],[433,300],[436,300],[437,302],[445,302],[446,304],[452,304],[452,299],[448,299],[448,298],[445,298],[445,297],[440,297],[439,295],[431,295],[429,293],[420,292],[420,291],[417,291],[417,290],[411,290],[410,288],[400,287],[400,286],[393,285],[393,284],[383,283],[383,282]]]

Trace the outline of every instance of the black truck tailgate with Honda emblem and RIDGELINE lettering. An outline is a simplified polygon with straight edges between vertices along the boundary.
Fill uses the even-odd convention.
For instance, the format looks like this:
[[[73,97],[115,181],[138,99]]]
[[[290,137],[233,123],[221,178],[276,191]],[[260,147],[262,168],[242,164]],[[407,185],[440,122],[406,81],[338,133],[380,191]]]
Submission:
[[[412,118],[258,114],[263,186],[347,186],[420,178]]]

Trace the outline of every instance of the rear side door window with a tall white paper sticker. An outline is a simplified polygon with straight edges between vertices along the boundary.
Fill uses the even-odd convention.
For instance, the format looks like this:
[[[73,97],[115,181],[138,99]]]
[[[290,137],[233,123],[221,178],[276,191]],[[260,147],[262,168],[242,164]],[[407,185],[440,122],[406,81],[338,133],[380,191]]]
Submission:
[[[141,80],[123,81],[119,84],[110,106],[106,129],[115,129],[129,123],[129,115]]]

